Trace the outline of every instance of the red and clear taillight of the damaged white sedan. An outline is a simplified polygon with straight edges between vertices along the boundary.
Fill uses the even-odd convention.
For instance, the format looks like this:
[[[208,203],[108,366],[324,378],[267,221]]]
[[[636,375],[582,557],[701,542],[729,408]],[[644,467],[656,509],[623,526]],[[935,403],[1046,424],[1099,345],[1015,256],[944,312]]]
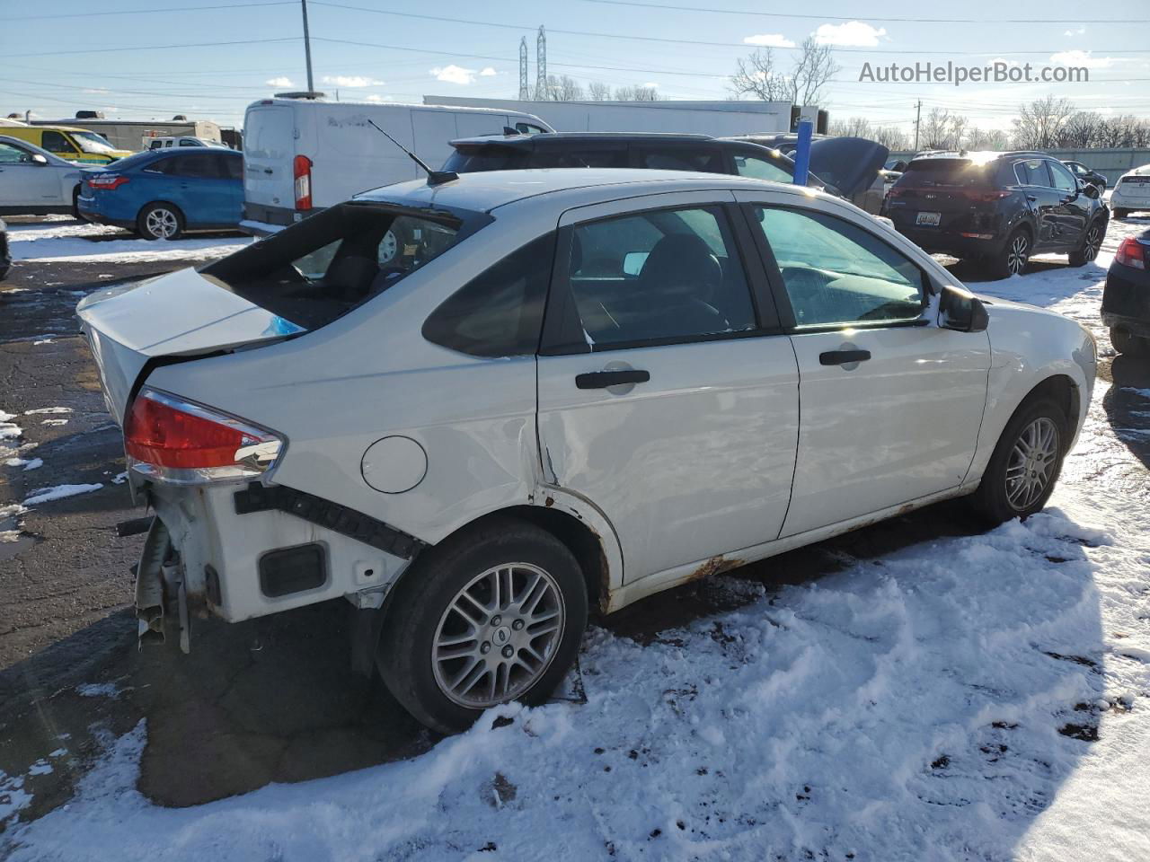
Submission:
[[[244,420],[144,387],[124,422],[128,467],[174,485],[237,482],[270,469],[283,439]]]

